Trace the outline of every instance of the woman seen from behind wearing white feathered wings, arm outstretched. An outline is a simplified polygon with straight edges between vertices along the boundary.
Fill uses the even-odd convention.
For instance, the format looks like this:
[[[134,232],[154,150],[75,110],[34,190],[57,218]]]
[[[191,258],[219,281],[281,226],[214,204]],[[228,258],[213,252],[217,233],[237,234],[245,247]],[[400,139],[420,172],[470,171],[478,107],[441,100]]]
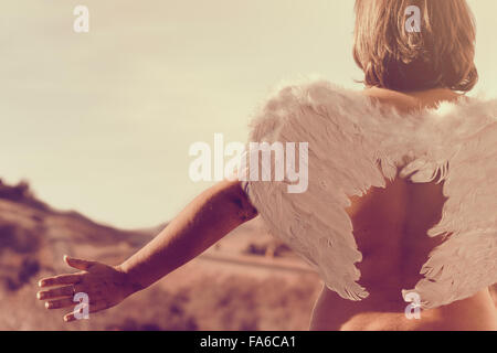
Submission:
[[[478,157],[497,156],[497,104],[464,97],[478,77],[470,11],[464,0],[358,0],[356,15],[366,89],[288,86],[254,120],[252,141],[309,141],[307,192],[221,182],[119,266],[65,257],[81,271],[40,281],[46,308],[73,307],[75,292],[91,312],[114,307],[258,213],[324,278],[310,329],[497,330],[497,205],[485,192],[497,181]]]

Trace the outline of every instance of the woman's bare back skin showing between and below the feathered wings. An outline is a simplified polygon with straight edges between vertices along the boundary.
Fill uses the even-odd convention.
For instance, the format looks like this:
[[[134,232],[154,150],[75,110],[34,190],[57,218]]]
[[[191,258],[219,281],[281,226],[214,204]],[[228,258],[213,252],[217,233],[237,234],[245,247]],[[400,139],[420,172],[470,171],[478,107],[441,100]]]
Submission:
[[[434,89],[416,94],[372,88],[366,94],[399,110],[432,107],[457,95]],[[409,302],[399,296],[421,279],[420,268],[442,239],[426,232],[438,223],[445,202],[443,183],[412,183],[395,178],[385,189],[371,188],[351,197],[347,208],[362,261],[359,284],[369,289],[362,301],[349,301],[324,288],[316,302],[313,330],[497,330],[497,310],[488,289],[465,300],[423,310],[408,319]]]

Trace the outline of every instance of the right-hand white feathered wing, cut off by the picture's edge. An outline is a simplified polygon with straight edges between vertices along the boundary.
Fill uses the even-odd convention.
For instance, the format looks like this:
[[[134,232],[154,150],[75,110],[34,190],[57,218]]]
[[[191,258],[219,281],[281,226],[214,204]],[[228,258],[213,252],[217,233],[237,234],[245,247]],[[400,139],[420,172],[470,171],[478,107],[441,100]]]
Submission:
[[[432,129],[443,132],[445,141],[433,146],[430,157],[446,158],[442,180],[448,199],[442,220],[427,234],[447,239],[423,265],[424,278],[403,291],[417,292],[426,308],[470,297],[497,282],[497,100],[446,108],[450,111]],[[435,137],[427,128],[425,136]],[[415,165],[424,161],[408,164],[401,176],[417,171],[411,180],[431,181],[430,169]]]

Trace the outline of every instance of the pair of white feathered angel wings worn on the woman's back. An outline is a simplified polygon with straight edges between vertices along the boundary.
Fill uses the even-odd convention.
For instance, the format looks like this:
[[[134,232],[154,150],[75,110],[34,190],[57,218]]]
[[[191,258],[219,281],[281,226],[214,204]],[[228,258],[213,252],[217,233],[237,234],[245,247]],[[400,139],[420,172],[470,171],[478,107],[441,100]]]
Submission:
[[[288,179],[250,180],[247,193],[269,232],[328,288],[361,300],[369,293],[358,284],[355,264],[362,256],[345,211],[349,196],[385,188],[399,170],[412,182],[441,175],[450,199],[429,235],[452,235],[433,250],[412,290],[424,307],[463,299],[497,281],[496,116],[497,101],[400,115],[326,81],[286,86],[257,114],[250,140],[308,142],[308,163],[298,165],[308,168],[308,189],[289,193]]]

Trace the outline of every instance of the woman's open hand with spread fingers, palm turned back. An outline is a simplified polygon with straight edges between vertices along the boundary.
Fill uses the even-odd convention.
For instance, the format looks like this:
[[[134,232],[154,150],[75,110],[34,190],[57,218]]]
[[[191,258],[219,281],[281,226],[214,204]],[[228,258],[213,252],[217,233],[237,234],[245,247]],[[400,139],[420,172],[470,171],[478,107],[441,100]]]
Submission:
[[[46,300],[46,309],[76,307],[78,302],[73,301],[74,295],[84,292],[88,296],[89,312],[97,312],[117,306],[137,290],[118,266],[68,256],[64,256],[64,261],[81,271],[40,280],[39,286],[42,288],[56,287],[36,295],[38,299]],[[74,312],[64,315],[66,322],[74,320]]]

